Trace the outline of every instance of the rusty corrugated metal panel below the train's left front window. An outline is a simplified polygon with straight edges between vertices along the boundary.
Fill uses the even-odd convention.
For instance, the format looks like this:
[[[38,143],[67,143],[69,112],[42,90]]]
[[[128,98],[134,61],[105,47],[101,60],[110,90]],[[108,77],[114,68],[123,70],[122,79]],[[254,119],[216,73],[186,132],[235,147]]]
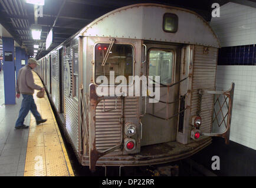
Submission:
[[[139,98],[124,98],[124,119],[137,117]],[[105,110],[114,109],[116,99],[105,99]],[[96,108],[96,149],[100,152],[118,145],[122,142],[122,100],[117,99],[117,109],[104,112],[104,100],[101,100]],[[120,149],[118,149],[120,150]],[[117,150],[116,150],[117,151]]]

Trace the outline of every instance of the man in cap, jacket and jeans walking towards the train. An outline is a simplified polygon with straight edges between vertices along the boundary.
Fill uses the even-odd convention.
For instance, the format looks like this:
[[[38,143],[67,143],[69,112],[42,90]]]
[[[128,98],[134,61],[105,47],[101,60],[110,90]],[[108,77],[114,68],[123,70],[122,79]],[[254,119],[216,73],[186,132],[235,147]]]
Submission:
[[[44,91],[44,88],[41,88],[34,83],[32,69],[34,69],[37,65],[37,61],[34,58],[30,58],[28,59],[28,65],[19,70],[16,85],[16,97],[19,98],[22,94],[23,99],[21,103],[21,109],[19,110],[19,117],[15,123],[15,129],[27,129],[29,127],[23,124],[29,110],[31,110],[35,120],[37,120],[37,125],[47,121],[47,119],[42,119],[40,113],[38,113],[37,105],[35,105],[33,98],[34,89]]]

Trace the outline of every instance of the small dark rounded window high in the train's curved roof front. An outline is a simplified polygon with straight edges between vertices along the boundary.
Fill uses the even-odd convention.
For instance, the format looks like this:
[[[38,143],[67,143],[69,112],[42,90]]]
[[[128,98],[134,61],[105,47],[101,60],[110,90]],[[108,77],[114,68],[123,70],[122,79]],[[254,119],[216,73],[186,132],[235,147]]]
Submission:
[[[176,14],[166,13],[163,15],[163,31],[176,33],[178,30],[178,16]]]

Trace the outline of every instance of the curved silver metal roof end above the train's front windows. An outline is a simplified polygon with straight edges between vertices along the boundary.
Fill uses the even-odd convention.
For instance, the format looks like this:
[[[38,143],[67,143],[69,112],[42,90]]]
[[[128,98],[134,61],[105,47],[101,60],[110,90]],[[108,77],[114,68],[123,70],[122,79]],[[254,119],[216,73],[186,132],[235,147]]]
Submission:
[[[178,16],[178,31],[163,31],[163,15]],[[135,4],[111,11],[81,29],[83,36],[145,39],[220,48],[211,26],[187,9],[160,4]]]

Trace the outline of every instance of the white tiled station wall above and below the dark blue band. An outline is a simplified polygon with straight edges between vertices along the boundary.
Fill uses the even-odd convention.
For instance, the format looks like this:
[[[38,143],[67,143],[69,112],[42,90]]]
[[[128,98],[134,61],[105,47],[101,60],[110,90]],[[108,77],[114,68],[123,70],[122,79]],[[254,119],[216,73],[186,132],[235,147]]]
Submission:
[[[222,47],[256,44],[256,8],[232,2],[221,6],[210,25]],[[230,140],[256,149],[256,66],[218,65],[216,89],[235,83]]]

